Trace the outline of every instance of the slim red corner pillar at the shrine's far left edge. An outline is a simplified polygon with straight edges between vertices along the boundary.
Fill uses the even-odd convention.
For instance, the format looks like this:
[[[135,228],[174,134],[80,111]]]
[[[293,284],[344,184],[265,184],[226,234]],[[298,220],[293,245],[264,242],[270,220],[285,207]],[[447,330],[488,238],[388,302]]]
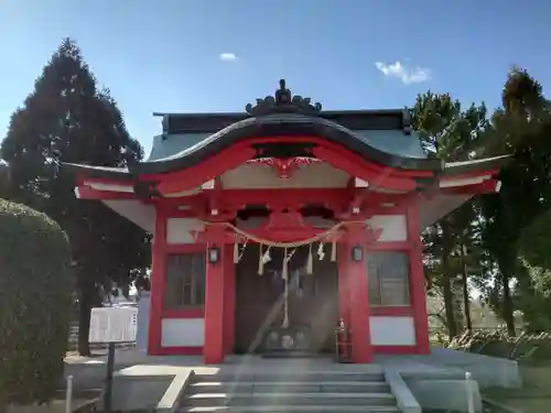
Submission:
[[[155,211],[155,232],[151,247],[151,304],[148,326],[148,354],[161,352],[161,328],[166,268],[166,214],[162,208]]]

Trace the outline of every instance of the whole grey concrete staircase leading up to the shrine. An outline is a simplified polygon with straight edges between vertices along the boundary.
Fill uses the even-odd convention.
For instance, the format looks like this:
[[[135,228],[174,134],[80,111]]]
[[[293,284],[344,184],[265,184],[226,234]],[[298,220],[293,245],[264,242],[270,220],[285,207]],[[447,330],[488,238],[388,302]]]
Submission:
[[[399,413],[382,373],[193,374],[179,413]]]

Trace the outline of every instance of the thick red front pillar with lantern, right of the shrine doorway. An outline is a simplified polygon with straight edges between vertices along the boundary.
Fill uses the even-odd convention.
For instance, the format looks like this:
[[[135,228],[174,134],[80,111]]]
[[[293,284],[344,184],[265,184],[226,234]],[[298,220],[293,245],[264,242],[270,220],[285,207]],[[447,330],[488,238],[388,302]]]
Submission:
[[[367,229],[364,225],[348,228],[345,254],[348,254],[348,287],[350,292],[352,360],[365,363],[372,360],[369,335],[369,298],[366,264]],[[361,257],[353,257],[353,249],[359,248]],[[359,260],[358,260],[359,259]]]

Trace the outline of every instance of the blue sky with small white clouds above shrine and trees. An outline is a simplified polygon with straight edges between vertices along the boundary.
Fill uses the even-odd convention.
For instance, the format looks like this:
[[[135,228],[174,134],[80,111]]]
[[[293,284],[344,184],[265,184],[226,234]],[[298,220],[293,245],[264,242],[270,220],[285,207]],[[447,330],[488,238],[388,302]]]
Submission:
[[[511,64],[551,87],[545,0],[0,0],[0,137],[72,36],[147,150],[153,111],[238,111],[288,79],[325,109],[418,93],[499,105]]]

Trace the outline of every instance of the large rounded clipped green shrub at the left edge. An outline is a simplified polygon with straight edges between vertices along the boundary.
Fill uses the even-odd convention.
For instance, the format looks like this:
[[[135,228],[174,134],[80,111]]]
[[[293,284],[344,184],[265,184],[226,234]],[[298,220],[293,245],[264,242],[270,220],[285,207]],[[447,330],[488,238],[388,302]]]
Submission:
[[[44,214],[0,199],[0,411],[47,402],[63,376],[69,243]]]

